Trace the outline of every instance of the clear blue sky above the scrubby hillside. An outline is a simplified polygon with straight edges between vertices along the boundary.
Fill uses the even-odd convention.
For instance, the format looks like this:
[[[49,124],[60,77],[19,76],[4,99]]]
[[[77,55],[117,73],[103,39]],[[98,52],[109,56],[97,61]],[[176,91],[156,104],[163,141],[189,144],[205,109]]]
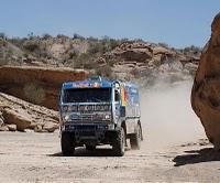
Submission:
[[[219,0],[0,0],[0,32],[142,39],[202,47]]]

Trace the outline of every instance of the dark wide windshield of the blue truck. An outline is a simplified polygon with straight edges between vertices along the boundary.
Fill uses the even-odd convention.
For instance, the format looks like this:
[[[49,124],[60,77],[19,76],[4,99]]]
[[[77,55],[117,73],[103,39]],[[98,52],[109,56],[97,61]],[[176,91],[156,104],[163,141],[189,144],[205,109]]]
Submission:
[[[109,103],[110,88],[74,88],[65,89],[63,103]]]

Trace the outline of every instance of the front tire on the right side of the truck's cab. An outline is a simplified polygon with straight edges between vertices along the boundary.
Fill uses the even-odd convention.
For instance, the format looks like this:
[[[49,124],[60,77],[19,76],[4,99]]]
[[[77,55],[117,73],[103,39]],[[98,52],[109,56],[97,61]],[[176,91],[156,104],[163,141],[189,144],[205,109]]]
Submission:
[[[112,143],[112,149],[114,152],[114,155],[117,157],[123,157],[125,151],[125,132],[124,129],[121,128],[117,134],[116,140]]]

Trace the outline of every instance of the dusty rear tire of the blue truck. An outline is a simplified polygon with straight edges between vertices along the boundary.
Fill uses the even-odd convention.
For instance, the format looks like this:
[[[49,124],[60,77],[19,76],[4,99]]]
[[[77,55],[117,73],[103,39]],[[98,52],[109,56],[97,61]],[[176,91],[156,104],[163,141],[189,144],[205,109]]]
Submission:
[[[135,133],[131,134],[130,137],[131,149],[139,150],[141,148],[141,141],[142,141],[142,130],[140,123],[138,123]]]

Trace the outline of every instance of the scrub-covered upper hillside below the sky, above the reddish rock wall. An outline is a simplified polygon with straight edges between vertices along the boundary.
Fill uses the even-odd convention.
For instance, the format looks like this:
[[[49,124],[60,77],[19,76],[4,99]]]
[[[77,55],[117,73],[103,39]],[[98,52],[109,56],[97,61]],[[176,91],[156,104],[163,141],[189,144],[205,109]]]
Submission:
[[[77,34],[73,37],[48,34],[25,39],[3,36],[0,47],[1,65],[86,68],[121,79],[154,78],[158,73],[167,72],[176,77],[179,73],[194,75],[200,57],[200,49],[196,46],[176,50],[164,43],[86,39]]]

